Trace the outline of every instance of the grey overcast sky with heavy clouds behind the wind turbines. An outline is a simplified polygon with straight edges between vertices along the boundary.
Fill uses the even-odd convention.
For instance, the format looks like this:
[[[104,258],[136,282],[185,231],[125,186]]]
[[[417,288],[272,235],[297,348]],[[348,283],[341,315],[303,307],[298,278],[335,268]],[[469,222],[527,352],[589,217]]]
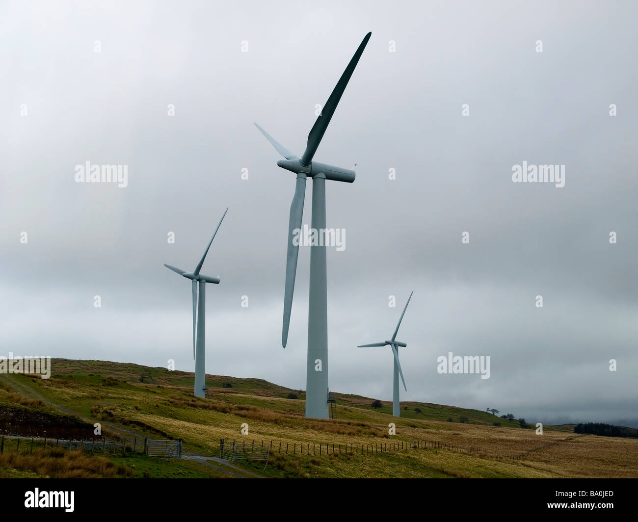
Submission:
[[[372,31],[315,154],[357,163],[355,183],[326,189],[327,227],[346,230],[327,253],[330,389],[392,399],[390,349],[357,345],[390,338],[414,290],[401,399],[638,427],[637,15],[575,0],[0,3],[0,355],[194,371],[190,283],[163,264],[195,269],[230,207],[202,269],[221,274],[207,373],[305,389],[309,248],[281,347],[295,175],[253,121],[300,156]],[[86,161],[127,165],[128,186],[76,183]],[[523,161],[565,165],[565,186],[513,183]],[[489,355],[490,378],[440,375],[448,352]]]

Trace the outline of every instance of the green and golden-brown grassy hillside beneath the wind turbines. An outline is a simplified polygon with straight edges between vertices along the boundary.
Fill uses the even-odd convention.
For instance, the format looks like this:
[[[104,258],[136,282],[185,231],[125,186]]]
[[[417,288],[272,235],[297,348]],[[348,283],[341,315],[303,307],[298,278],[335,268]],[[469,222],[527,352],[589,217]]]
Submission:
[[[0,406],[19,405],[31,412],[57,414],[63,408],[91,425],[105,422],[140,436],[182,438],[186,451],[208,456],[219,455],[221,438],[245,439],[249,444],[272,441],[275,449],[281,442],[283,447],[288,444],[296,449],[294,455],[271,455],[265,471],[263,465],[237,463],[265,476],[638,477],[638,440],[575,435],[573,426],[545,426],[544,434],[536,435],[534,429],[523,429],[517,421],[487,412],[414,402],[401,403],[402,417],[397,419],[390,415],[391,403],[375,409],[371,398],[338,393],[333,394],[337,421],[304,419],[303,392],[260,379],[210,375],[210,397],[200,399],[193,397],[192,373],[66,359],[54,359],[52,368],[54,374],[48,380],[0,375]],[[289,394],[298,398],[288,398]],[[468,421],[459,422],[461,417]],[[495,421],[501,426],[493,426]],[[246,436],[240,433],[244,422],[249,428]],[[396,423],[394,436],[388,434],[389,422]],[[370,445],[403,443],[407,447],[414,440],[480,451],[426,447],[366,456],[307,454],[313,444],[324,448],[353,445],[359,452],[360,447]],[[301,444],[304,455],[299,454]],[[150,466],[151,461],[157,459],[140,465]],[[137,465],[135,469],[141,472]],[[156,469],[152,476],[161,474]]]

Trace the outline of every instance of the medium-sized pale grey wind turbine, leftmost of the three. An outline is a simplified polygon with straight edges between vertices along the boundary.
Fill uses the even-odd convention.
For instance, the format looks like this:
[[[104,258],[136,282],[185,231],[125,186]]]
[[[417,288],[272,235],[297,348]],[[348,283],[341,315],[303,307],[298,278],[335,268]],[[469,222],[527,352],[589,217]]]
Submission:
[[[219,225],[215,229],[214,234],[212,234],[211,241],[206,247],[206,251],[202,256],[202,259],[195,267],[193,272],[186,272],[185,270],[181,270],[179,268],[172,267],[171,265],[164,264],[168,269],[177,272],[179,275],[184,276],[192,281],[191,288],[193,290],[193,359],[195,359],[195,396],[196,397],[205,397],[206,396],[206,369],[205,369],[205,359],[206,359],[206,283],[213,283],[214,285],[219,285],[219,276],[216,278],[212,278],[211,276],[204,276],[200,274],[200,270],[202,269],[202,265],[204,264],[204,259],[206,258],[206,254],[208,253],[209,248],[211,248],[212,240],[215,239],[215,235],[219,230],[221,222],[224,220],[224,216],[226,216],[226,212],[221,216],[221,220],[219,220]],[[199,304],[197,299],[197,284],[199,283]],[[196,350],[197,348],[197,350]]]

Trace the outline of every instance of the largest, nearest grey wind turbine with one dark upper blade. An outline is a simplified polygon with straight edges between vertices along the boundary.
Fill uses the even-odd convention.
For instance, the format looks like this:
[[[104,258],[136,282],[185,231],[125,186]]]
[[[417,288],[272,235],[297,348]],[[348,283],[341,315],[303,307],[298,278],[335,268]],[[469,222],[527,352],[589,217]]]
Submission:
[[[293,231],[301,228],[304,213],[304,197],[306,195],[306,178],[313,179],[313,207],[311,226],[314,230],[325,230],[325,181],[355,181],[355,172],[347,168],[333,167],[325,163],[313,161],[313,156],[325,133],[332,114],[337,108],[343,91],[348,85],[359,58],[366,48],[372,33],[367,33],[360,43],[357,52],[350,60],[346,70],[339,78],[339,82],[330,94],[330,98],[322,108],[313,128],[308,134],[306,151],[299,158],[279,144],[265,130],[256,123],[279,154],[286,158],[279,160],[277,165],[297,174],[295,195],[290,205],[290,221],[288,223],[288,255],[286,257],[286,285],[283,302],[283,332],[281,345],[285,348],[288,341],[288,327],[290,325],[290,309],[292,295],[295,288],[295,274],[297,272],[297,256],[299,244],[293,242]],[[322,243],[324,243],[322,241]],[[306,368],[306,417],[317,419],[328,418],[328,310],[327,310],[327,276],[325,261],[325,244],[312,244],[310,247],[310,292],[308,303],[308,366]]]

